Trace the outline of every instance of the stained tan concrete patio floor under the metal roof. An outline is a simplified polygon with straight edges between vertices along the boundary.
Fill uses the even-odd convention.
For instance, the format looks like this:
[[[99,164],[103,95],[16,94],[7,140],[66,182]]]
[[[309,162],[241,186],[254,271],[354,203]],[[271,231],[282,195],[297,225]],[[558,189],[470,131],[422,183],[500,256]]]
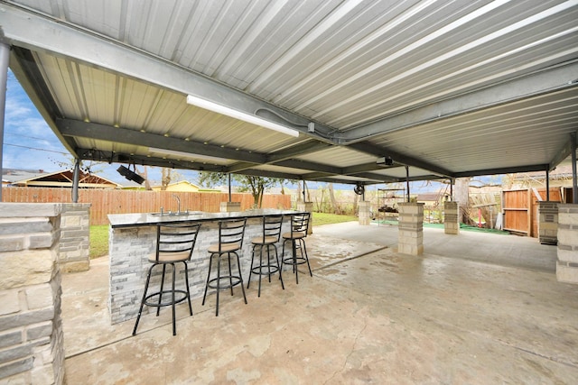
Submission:
[[[317,226],[313,277],[284,272],[208,304],[110,325],[107,258],[62,277],[69,384],[576,383],[578,286],[555,246],[424,228],[424,255],[394,226]],[[205,271],[192,271],[200,274]]]

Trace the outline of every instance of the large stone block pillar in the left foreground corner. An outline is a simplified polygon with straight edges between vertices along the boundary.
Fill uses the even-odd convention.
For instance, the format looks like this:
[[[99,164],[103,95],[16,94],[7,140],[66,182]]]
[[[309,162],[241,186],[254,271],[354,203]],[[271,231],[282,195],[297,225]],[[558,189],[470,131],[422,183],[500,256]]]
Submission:
[[[0,203],[0,383],[64,381],[60,212]]]

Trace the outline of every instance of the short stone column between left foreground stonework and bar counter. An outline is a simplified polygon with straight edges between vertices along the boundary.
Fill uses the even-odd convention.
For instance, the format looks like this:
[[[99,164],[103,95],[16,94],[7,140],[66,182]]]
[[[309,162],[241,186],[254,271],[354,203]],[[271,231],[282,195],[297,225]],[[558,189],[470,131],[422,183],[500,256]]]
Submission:
[[[90,204],[63,203],[61,212],[61,272],[90,268]]]

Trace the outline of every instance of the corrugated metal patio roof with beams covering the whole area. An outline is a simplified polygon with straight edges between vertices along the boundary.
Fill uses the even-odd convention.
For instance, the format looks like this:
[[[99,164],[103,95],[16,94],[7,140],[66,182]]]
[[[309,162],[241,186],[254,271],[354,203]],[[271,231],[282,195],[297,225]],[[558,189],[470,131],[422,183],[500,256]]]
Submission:
[[[371,184],[575,151],[578,0],[0,0],[0,28],[82,160]]]

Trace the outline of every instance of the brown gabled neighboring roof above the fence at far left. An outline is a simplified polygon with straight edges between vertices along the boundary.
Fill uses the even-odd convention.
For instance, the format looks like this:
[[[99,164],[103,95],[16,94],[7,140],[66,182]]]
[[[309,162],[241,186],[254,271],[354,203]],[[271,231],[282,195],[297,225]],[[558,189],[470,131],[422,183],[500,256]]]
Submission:
[[[43,170],[5,169],[3,183],[9,186],[36,188],[71,188],[74,175],[72,170],[44,172]],[[120,185],[84,171],[79,171],[79,188],[119,188]]]

